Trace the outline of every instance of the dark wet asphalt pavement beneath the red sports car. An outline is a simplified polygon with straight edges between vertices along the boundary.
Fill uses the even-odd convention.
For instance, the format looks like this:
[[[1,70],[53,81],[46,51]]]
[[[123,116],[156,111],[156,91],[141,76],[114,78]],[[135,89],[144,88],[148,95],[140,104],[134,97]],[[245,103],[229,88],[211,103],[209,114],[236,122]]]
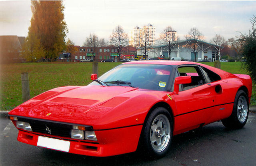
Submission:
[[[174,136],[164,158],[148,160],[136,153],[105,158],[58,152],[16,140],[18,130],[0,117],[0,166],[256,166],[256,113],[243,129],[221,122]]]

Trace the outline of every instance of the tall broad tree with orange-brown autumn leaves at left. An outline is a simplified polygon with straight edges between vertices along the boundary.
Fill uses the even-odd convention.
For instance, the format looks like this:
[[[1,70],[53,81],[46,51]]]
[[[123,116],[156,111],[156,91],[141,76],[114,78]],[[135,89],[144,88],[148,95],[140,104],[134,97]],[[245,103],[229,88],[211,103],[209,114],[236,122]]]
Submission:
[[[34,58],[54,61],[58,52],[66,49],[65,37],[68,32],[64,21],[62,1],[31,1],[32,18],[28,37],[23,49],[33,53]],[[30,47],[34,43],[34,47]],[[26,55],[25,57],[29,57]]]

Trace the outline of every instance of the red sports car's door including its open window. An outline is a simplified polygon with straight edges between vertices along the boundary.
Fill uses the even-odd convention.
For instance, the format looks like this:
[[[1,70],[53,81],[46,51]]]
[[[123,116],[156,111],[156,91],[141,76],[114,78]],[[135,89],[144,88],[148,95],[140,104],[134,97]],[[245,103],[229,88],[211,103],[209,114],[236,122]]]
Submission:
[[[211,86],[198,65],[178,66],[179,76],[191,76],[190,84],[182,84],[181,91],[174,94],[176,115],[174,131],[182,133],[200,125],[204,125],[212,117],[214,111],[214,94]]]

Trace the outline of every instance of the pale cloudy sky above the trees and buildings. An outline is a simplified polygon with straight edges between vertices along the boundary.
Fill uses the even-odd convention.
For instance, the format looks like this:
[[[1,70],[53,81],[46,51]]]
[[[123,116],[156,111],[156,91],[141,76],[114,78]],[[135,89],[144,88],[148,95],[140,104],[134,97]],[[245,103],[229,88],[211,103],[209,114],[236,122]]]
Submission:
[[[209,42],[216,34],[226,40],[239,32],[248,34],[256,1],[169,1],[169,0],[68,0],[63,1],[66,39],[82,46],[90,33],[109,40],[120,25],[131,30],[151,23],[156,38],[172,26],[180,39],[196,27]],[[32,17],[30,1],[0,1],[0,35],[27,36]]]

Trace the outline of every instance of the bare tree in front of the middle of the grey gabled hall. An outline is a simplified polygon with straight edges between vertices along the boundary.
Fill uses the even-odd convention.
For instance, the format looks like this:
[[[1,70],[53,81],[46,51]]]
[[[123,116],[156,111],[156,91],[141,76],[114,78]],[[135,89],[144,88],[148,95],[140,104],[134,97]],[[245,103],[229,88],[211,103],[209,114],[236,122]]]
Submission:
[[[203,37],[204,35],[202,35],[202,33],[196,27],[191,28],[190,31],[188,32],[188,35],[185,35],[185,38],[187,39],[186,47],[194,53],[195,62],[197,61],[196,54],[200,50],[202,50],[202,48],[198,44],[198,41],[202,40]]]

